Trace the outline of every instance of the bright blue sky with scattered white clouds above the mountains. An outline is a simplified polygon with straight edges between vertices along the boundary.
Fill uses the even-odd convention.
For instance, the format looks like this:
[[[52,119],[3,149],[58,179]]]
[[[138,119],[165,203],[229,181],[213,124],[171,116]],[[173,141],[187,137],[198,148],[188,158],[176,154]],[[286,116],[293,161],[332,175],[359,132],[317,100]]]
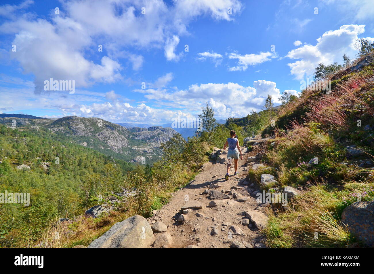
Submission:
[[[297,95],[318,63],[355,58],[373,18],[372,0],[2,0],[0,112],[163,124],[208,103],[245,116]],[[74,93],[45,91],[50,78]]]

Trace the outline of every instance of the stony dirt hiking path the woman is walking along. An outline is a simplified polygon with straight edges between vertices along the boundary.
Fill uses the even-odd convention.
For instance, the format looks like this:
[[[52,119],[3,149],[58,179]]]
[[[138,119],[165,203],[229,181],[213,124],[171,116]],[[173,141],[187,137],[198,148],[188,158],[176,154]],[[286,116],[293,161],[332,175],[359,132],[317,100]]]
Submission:
[[[255,200],[253,192],[258,189],[246,179],[245,168],[248,157],[255,156],[267,140],[258,139],[254,149],[239,159],[238,176],[233,175],[232,165],[230,179],[224,179],[226,149],[217,163],[206,162],[190,184],[174,192],[169,203],[147,219],[155,232],[154,247],[264,247],[259,229],[266,225],[267,216]]]

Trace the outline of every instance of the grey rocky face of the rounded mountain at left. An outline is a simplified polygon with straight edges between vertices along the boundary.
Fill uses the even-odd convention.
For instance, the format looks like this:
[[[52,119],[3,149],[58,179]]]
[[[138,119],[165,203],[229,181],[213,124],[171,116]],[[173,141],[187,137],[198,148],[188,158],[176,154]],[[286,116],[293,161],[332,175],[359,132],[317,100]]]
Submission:
[[[66,135],[98,138],[118,153],[123,153],[123,147],[129,146],[129,131],[126,128],[100,118],[67,116],[52,122],[48,128]]]

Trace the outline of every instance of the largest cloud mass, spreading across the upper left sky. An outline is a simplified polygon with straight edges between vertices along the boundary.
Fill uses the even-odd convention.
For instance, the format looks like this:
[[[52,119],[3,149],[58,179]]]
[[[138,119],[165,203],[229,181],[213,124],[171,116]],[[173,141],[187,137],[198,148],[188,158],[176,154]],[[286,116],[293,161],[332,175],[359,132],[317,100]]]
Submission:
[[[52,10],[48,18],[19,16],[19,9],[31,4],[33,1],[27,0],[0,6],[0,15],[9,18],[0,25],[0,33],[14,37],[17,51],[9,51],[9,55],[25,73],[34,74],[36,92],[42,91],[44,80],[51,77],[75,80],[79,87],[123,79],[120,58],[128,59],[133,70],[144,63],[134,52],[138,48],[164,48],[167,60],[178,61],[181,54],[175,49],[179,36],[188,33],[188,24],[197,16],[232,21],[242,9],[237,0],[195,0],[192,4],[177,0],[171,5],[162,0],[67,0],[62,1],[58,15]],[[88,49],[97,53],[96,41],[102,40],[104,51],[98,58],[90,58]]]

